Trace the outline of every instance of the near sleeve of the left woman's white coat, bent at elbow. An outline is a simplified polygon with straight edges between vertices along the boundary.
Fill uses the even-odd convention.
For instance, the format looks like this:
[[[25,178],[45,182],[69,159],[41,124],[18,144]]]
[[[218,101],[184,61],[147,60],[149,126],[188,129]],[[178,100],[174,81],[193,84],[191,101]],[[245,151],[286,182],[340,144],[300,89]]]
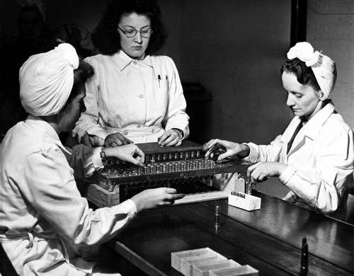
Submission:
[[[132,200],[93,211],[76,188],[61,149],[30,154],[19,178],[21,192],[38,214],[76,245],[93,245],[118,234],[137,213]]]

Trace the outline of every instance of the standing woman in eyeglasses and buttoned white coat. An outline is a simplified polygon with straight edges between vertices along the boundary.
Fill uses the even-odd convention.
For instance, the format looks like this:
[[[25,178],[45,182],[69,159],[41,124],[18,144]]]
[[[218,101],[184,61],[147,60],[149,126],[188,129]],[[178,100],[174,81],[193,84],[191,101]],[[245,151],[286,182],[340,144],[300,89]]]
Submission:
[[[86,112],[74,136],[92,146],[159,142],[179,146],[189,135],[186,103],[173,60],[155,55],[167,38],[155,0],[111,0],[93,33],[101,54],[86,86]]]

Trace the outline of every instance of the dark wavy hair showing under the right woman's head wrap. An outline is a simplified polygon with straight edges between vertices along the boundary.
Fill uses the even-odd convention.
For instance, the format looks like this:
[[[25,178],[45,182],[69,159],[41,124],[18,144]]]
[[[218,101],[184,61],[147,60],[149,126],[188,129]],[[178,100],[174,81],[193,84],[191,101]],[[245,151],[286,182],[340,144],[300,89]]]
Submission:
[[[312,68],[307,67],[307,65],[297,57],[295,57],[295,59],[287,60],[282,64],[280,73],[282,74],[284,72],[295,74],[297,81],[299,81],[300,84],[312,86],[315,91],[321,90],[319,83],[314,76],[314,71],[312,71]]]

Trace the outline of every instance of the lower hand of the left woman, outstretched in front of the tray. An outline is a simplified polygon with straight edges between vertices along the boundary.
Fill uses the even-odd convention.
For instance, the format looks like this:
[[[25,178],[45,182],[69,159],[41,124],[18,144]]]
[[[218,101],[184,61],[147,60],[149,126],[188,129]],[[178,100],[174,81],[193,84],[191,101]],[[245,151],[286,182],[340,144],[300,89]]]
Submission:
[[[175,200],[179,200],[185,196],[176,192],[177,190],[173,188],[147,189],[134,195],[131,200],[137,206],[137,212],[140,212],[144,209],[173,205]]]

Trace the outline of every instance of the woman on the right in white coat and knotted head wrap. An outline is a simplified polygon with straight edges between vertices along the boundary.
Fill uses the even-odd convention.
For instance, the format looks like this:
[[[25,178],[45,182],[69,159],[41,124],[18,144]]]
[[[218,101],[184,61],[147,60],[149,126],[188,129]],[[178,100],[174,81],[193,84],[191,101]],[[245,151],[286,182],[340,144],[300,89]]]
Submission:
[[[285,132],[268,145],[213,139],[207,156],[251,161],[253,182],[278,177],[289,188],[285,200],[346,219],[348,192],[354,188],[353,130],[334,110],[329,96],[336,83],[336,64],[299,42],[282,64],[287,105],[295,114]]]

